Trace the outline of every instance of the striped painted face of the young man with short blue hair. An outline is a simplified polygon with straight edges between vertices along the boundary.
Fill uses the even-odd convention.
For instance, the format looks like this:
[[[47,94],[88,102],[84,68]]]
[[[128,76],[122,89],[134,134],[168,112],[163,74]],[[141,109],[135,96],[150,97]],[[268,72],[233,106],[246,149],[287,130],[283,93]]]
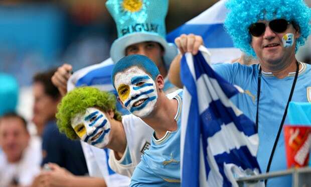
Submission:
[[[158,93],[156,83],[137,66],[118,72],[114,85],[126,109],[133,115],[144,118],[156,105]]]

